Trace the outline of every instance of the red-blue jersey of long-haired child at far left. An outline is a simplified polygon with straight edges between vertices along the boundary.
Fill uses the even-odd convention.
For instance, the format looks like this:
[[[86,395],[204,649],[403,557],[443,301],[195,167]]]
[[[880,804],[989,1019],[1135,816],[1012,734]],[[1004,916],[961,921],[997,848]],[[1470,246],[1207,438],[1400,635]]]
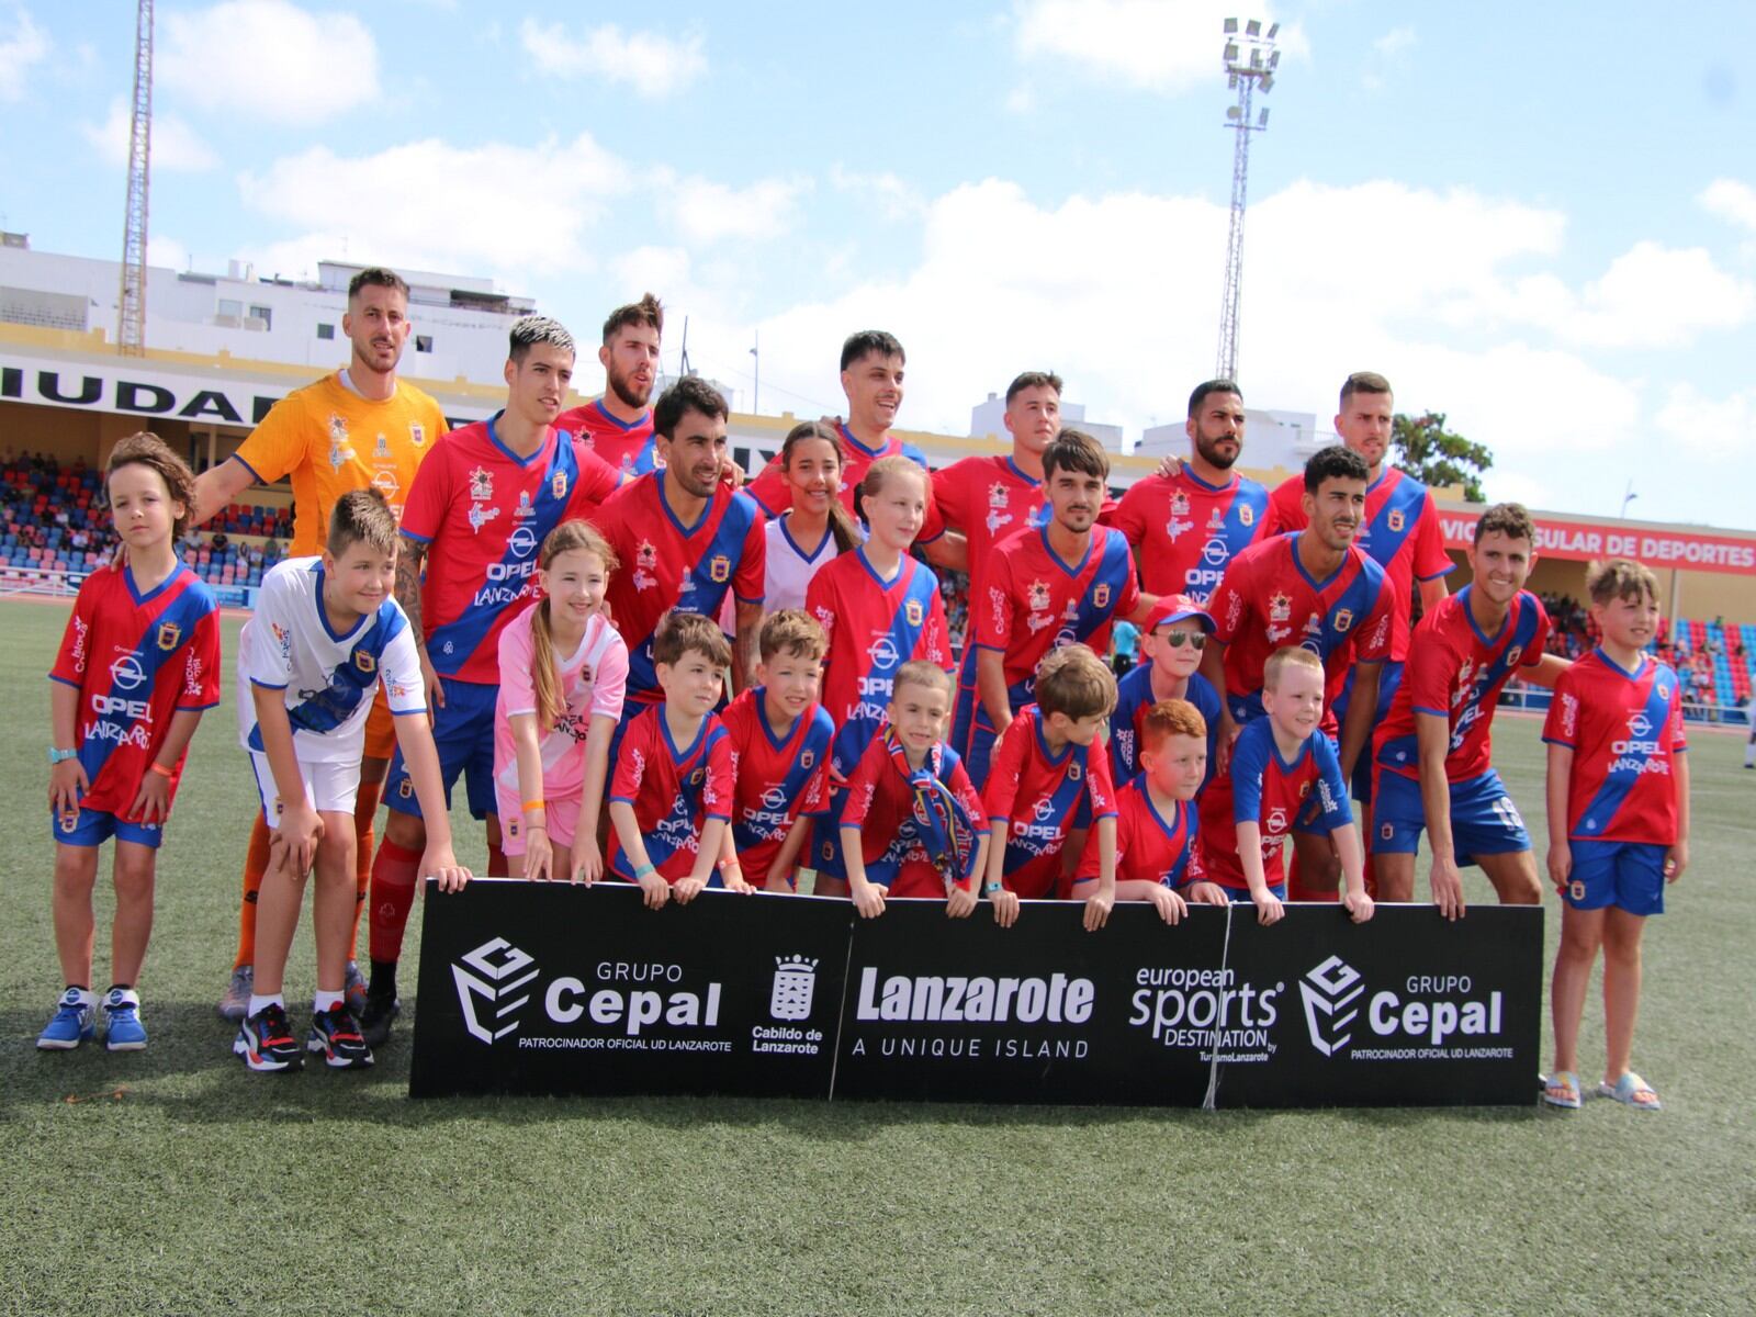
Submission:
[[[220,601],[181,562],[146,594],[126,565],[98,567],[79,587],[49,680],[79,690],[74,748],[91,783],[79,804],[123,818],[170,720],[220,702]],[[184,757],[170,766],[172,794]]]

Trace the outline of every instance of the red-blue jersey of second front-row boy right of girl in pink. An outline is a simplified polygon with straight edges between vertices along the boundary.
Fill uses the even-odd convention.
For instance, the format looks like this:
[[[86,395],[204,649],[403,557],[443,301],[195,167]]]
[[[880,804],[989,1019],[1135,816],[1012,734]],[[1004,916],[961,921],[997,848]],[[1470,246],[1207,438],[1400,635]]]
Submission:
[[[801,818],[829,810],[829,750],[836,725],[822,704],[774,736],[764,688],[739,692],[720,722],[732,739],[732,845],[745,876],[760,885]]]

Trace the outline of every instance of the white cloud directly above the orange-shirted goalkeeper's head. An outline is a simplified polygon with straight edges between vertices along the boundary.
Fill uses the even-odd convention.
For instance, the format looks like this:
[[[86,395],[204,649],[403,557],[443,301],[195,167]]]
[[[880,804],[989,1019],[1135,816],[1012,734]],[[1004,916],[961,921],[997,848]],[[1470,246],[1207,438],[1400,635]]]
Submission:
[[[246,205],[306,230],[246,255],[290,276],[341,255],[469,274],[585,269],[583,234],[629,177],[588,133],[536,146],[428,139],[367,156],[318,146],[239,176]]]

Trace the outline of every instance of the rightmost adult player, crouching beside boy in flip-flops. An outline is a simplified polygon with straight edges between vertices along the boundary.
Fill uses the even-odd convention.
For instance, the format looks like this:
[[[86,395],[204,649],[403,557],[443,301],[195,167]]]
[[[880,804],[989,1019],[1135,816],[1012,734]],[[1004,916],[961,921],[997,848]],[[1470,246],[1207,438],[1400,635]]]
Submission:
[[[1489,739],[1514,673],[1552,687],[1568,666],[1544,653],[1549,615],[1524,588],[1535,543],[1524,507],[1489,507],[1475,523],[1473,579],[1415,627],[1408,674],[1373,734],[1371,860],[1380,901],[1414,899],[1422,829],[1433,845],[1433,904],[1445,918],[1463,915],[1459,864],[1480,864],[1503,903],[1542,901],[1531,839],[1494,773]]]

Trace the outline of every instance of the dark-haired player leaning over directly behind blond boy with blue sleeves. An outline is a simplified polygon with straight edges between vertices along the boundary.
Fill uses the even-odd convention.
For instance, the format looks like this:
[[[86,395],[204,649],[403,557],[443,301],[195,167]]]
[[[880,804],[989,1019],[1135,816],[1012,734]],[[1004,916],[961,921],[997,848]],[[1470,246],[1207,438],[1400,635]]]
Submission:
[[[1366,502],[1366,464],[1340,444],[1319,450],[1305,464],[1305,506],[1310,525],[1252,544],[1226,567],[1208,601],[1213,637],[1201,655],[1201,674],[1220,697],[1220,730],[1213,778],[1201,792],[1201,867],[1238,885],[1238,860],[1219,841],[1231,829],[1227,762],[1238,727],[1263,716],[1264,664],[1285,646],[1301,644],[1322,662],[1328,688],[1322,729],[1336,734],[1329,711],[1349,671],[1354,687],[1373,692],[1389,653],[1391,597],[1384,569],[1356,544]],[[1371,739],[1375,695],[1361,699],[1340,725],[1342,771],[1350,773]],[[1224,832],[1222,832],[1224,829]],[[1294,852],[1308,899],[1335,899],[1340,864],[1321,832],[1294,831]]]

